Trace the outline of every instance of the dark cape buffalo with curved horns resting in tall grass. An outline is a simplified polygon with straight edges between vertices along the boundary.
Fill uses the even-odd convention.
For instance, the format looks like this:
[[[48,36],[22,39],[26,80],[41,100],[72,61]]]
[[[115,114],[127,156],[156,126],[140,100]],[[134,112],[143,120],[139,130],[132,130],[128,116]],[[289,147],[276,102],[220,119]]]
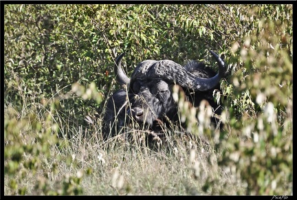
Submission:
[[[144,60],[134,69],[131,78],[122,69],[124,54],[118,56],[114,67],[116,80],[126,89],[115,91],[107,101],[105,136],[117,134],[131,119],[140,127],[146,126],[153,131],[158,130],[160,123],[177,120],[178,105],[173,99],[173,85],[180,86],[193,106],[207,100],[214,113],[220,114],[222,109],[214,101],[213,91],[220,89],[219,81],[226,67],[217,54],[210,53],[217,60],[218,73],[197,61],[190,61],[183,67],[173,60]]]

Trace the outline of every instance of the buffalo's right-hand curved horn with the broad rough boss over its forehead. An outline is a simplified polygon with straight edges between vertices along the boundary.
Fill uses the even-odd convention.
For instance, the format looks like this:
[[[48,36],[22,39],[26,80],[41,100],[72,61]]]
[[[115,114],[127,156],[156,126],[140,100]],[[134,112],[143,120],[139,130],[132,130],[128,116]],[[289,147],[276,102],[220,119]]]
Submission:
[[[214,52],[210,51],[210,53],[219,65],[219,72],[212,78],[199,78],[173,60],[146,60],[145,63],[140,63],[137,66],[138,70],[133,72],[131,82],[136,78],[141,79],[143,77],[162,78],[194,91],[210,90],[217,86],[226,71],[224,61]],[[147,67],[147,65],[151,66]]]

